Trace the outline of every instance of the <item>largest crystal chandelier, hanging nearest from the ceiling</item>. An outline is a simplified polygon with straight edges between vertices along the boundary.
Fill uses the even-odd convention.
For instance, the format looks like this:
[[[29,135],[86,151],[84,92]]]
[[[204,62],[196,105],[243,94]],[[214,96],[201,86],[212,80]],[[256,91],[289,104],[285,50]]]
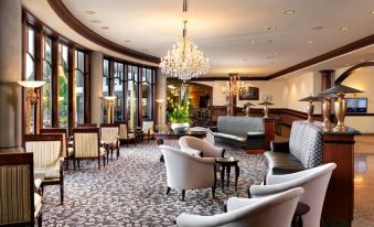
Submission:
[[[183,21],[183,35],[179,37],[177,45],[174,44],[172,50],[169,50],[168,54],[161,58],[160,63],[163,74],[183,82],[204,75],[210,69],[209,58],[205,58],[192,39],[186,36],[186,22]]]

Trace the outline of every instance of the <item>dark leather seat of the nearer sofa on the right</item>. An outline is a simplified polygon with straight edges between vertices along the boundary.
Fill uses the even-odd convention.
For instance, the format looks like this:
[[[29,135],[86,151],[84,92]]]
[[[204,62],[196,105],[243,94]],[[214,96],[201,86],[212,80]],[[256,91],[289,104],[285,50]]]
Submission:
[[[291,153],[267,151],[264,155],[268,161],[269,174],[280,175],[304,170],[302,163]]]

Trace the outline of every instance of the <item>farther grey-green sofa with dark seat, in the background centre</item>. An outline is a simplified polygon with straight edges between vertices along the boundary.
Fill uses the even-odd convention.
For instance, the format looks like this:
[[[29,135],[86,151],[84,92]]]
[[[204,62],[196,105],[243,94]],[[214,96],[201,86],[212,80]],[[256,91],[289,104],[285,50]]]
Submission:
[[[239,145],[243,149],[265,148],[264,118],[220,116],[212,128],[215,141]]]

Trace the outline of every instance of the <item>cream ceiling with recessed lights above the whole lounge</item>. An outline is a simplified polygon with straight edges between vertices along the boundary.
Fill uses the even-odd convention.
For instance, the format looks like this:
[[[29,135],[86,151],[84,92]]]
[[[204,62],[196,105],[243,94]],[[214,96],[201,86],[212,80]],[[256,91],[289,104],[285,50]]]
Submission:
[[[175,43],[188,19],[188,33],[211,60],[207,76],[267,76],[374,34],[372,0],[190,0],[188,13],[182,13],[182,0],[62,1],[99,35],[159,57]],[[30,0],[23,2],[35,8]],[[363,48],[310,68],[355,65],[373,60],[373,52]]]

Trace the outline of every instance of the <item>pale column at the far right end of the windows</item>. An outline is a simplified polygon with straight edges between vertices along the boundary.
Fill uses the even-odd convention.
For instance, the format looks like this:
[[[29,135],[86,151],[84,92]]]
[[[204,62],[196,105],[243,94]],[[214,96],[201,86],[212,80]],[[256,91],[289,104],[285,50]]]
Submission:
[[[163,100],[163,102],[156,101],[157,111],[154,120],[157,122],[157,128],[159,126],[167,125],[167,76],[161,73],[160,69],[157,69],[157,87],[156,87],[156,100]]]

